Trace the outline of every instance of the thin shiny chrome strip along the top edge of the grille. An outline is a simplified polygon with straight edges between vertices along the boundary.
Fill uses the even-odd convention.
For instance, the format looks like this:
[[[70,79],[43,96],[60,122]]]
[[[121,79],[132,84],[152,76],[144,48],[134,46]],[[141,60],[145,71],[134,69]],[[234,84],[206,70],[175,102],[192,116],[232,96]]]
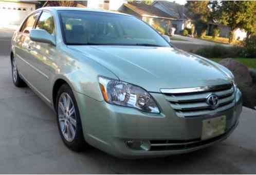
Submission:
[[[179,89],[160,89],[163,94],[182,94],[182,93],[195,93],[195,92],[207,92],[214,90],[222,90],[225,88],[232,88],[232,83],[212,86],[202,86],[196,88],[179,88]]]

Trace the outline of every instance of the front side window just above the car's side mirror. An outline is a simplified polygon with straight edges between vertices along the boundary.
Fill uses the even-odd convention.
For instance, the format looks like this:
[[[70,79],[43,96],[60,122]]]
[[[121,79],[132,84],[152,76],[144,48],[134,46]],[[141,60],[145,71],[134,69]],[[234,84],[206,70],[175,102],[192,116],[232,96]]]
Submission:
[[[49,34],[54,35],[54,20],[49,12],[43,12],[36,24],[35,29],[46,30]]]

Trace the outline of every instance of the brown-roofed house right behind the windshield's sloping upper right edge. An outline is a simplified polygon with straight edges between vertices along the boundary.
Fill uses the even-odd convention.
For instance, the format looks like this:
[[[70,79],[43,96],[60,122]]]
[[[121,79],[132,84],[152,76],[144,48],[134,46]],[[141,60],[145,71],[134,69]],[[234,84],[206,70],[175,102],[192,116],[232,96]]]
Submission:
[[[123,4],[118,11],[138,17],[162,34],[167,33],[168,22],[175,20],[175,17],[144,3]]]

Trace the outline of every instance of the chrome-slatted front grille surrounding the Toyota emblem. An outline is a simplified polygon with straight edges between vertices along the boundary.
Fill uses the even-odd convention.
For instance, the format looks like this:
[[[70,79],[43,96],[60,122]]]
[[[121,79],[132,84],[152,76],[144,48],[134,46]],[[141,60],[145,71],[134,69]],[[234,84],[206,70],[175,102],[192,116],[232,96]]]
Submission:
[[[161,90],[170,102],[178,117],[197,117],[211,113],[222,112],[235,104],[234,88],[232,84],[210,86],[203,88]],[[206,101],[214,94],[219,99],[217,108],[212,108]]]

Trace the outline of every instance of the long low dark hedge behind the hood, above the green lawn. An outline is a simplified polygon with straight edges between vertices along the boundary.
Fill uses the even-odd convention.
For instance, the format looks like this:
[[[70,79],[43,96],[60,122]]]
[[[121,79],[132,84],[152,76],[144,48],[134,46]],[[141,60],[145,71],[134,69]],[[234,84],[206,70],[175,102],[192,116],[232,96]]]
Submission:
[[[208,46],[192,51],[192,53],[206,58],[239,58],[247,55],[246,48],[238,46]]]

